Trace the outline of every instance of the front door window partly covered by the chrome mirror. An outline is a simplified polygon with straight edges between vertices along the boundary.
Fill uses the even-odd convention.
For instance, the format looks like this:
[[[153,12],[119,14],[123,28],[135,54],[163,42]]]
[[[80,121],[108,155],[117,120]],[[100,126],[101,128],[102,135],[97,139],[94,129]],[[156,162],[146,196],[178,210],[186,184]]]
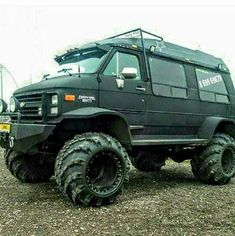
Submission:
[[[137,78],[140,79],[139,59],[136,55],[116,52],[106,69],[104,75],[119,76],[125,67],[132,67],[137,69]]]

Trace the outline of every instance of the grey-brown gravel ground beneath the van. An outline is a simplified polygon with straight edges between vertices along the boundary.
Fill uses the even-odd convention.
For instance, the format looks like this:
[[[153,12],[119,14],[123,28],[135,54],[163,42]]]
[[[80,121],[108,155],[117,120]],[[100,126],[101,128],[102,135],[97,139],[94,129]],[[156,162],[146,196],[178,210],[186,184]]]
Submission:
[[[17,181],[0,158],[0,235],[235,235],[235,181],[207,186],[189,163],[130,172],[118,201],[79,208],[46,184]]]

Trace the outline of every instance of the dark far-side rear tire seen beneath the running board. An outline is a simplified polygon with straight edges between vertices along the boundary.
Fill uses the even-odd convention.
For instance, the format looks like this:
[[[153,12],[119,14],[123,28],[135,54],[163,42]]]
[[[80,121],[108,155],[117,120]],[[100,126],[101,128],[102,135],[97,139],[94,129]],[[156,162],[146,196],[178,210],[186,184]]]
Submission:
[[[166,157],[154,151],[141,151],[135,157],[131,157],[131,164],[140,171],[160,171],[165,165]]]

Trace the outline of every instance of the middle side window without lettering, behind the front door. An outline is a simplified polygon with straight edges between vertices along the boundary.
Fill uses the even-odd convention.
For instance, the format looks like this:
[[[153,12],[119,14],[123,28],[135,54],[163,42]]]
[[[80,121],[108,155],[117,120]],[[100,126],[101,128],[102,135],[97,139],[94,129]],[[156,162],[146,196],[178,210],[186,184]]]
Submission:
[[[149,57],[149,66],[155,95],[187,98],[186,77],[182,64]]]

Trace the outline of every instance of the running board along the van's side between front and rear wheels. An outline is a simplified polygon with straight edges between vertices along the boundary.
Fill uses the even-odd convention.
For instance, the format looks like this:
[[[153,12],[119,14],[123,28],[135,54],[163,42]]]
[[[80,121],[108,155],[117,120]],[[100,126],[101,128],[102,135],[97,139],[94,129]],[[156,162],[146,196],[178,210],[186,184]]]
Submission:
[[[206,145],[209,139],[139,139],[132,140],[133,146],[148,146],[148,145],[177,145],[177,144],[190,144],[190,145]]]

